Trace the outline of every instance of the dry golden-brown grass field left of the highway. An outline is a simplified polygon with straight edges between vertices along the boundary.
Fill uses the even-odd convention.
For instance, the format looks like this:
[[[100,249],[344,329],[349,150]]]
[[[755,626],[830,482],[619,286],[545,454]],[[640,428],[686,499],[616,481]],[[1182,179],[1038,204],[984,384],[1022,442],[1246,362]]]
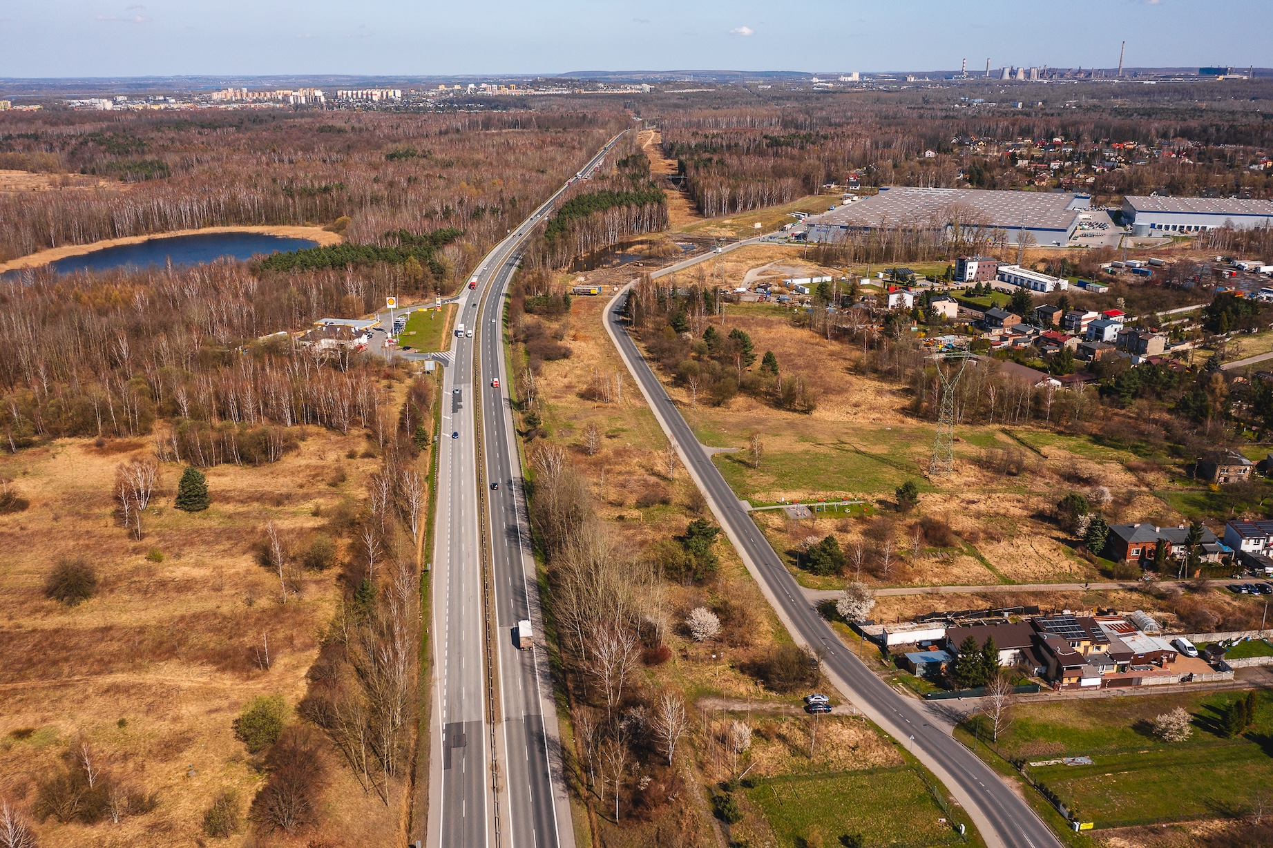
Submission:
[[[227,789],[247,812],[264,775],[230,722],[255,695],[295,705],[339,596],[339,569],[306,572],[283,602],[255,545],[266,521],[289,539],[313,532],[362,498],[377,465],[346,458],[360,437],[309,430],[272,466],[209,469],[213,503],[199,513],[173,508],[182,469],[160,466],[135,541],[115,514],[113,475],[150,448],[149,439],[62,439],[0,460],[0,475],[31,502],[0,517],[0,795],[29,807],[71,746],[88,744],[113,781],[158,798],[118,824],[50,817],[36,825],[43,845],[204,844],[204,810]],[[74,607],[46,598],[53,564],[76,556],[97,570],[95,597]],[[335,759],[327,774],[326,831],[339,844],[397,838],[396,807],[365,796]],[[248,844],[246,834],[220,844]]]

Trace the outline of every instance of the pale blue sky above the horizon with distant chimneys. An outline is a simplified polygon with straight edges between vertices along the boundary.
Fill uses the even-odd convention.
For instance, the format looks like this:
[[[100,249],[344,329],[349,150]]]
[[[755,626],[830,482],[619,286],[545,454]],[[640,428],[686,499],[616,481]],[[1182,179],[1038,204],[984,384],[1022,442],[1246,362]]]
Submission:
[[[0,78],[1273,65],[1273,0],[0,0]]]

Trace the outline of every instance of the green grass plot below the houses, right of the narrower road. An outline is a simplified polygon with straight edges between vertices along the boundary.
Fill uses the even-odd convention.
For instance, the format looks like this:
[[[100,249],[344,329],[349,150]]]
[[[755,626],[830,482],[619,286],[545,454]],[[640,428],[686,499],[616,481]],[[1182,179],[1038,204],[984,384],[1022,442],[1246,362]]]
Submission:
[[[1045,765],[1030,773],[1097,828],[1244,815],[1260,803],[1273,775],[1273,703],[1265,695],[1244,736],[1221,738],[1218,708],[1237,696],[1172,694],[1017,707],[999,753],[1027,761],[1091,756],[1094,765]],[[1162,742],[1150,732],[1148,719],[1175,707],[1194,717],[1193,735]]]

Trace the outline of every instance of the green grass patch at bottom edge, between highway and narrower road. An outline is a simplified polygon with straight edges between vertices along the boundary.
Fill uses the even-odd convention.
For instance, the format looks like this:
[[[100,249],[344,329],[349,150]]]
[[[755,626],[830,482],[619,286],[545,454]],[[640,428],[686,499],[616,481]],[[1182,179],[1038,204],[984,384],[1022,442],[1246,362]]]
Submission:
[[[868,845],[962,844],[910,767],[757,781],[747,801],[773,834],[771,843],[749,844],[834,845],[850,834]]]

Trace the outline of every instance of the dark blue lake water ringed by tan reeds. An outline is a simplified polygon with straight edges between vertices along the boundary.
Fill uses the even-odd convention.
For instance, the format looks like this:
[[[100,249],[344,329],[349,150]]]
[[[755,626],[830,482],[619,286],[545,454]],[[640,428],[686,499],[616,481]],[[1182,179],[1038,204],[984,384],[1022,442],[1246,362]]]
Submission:
[[[59,274],[74,274],[75,271],[109,271],[116,267],[163,267],[169,258],[173,265],[201,265],[223,256],[247,260],[257,253],[299,251],[317,246],[318,242],[308,238],[286,238],[266,236],[265,233],[200,233],[151,238],[137,244],[103,247],[92,253],[56,260],[48,266]],[[15,274],[18,271],[9,271],[4,276]]]

